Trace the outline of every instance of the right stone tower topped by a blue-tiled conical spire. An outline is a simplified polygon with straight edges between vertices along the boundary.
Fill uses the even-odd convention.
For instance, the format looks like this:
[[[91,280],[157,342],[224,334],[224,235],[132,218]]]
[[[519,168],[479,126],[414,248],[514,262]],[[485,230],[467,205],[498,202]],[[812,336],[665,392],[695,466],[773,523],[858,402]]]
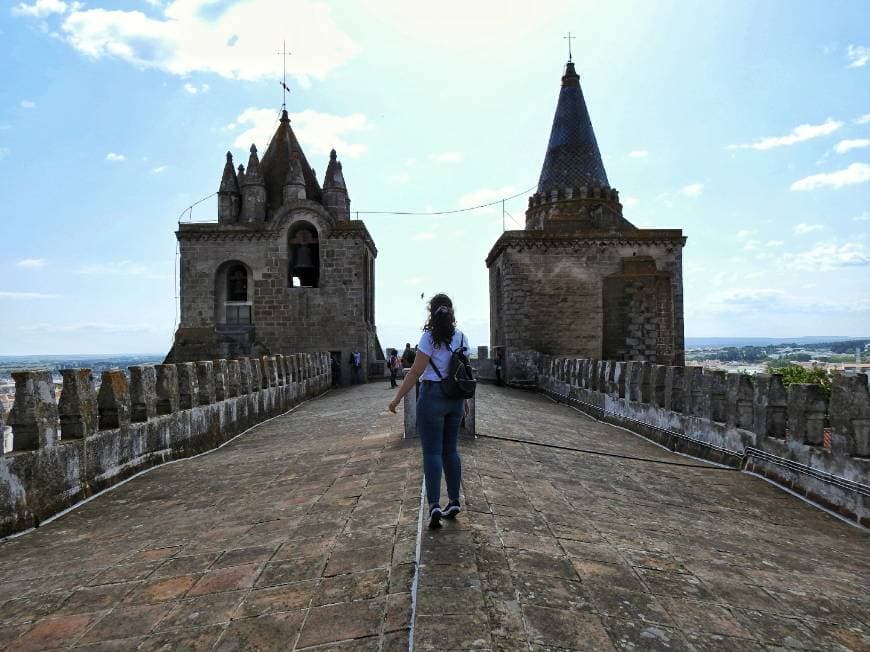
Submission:
[[[508,378],[526,353],[681,365],[679,229],[638,229],[622,214],[570,61],[526,226],[492,247],[490,340]],[[519,357],[516,357],[519,356]]]

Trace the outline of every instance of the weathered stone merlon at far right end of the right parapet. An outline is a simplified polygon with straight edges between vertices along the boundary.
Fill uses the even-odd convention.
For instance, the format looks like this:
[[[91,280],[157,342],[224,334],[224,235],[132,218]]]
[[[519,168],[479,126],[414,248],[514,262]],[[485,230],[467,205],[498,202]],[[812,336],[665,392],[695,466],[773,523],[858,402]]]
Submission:
[[[867,374],[834,376],[831,387],[831,451],[870,457],[870,394]]]

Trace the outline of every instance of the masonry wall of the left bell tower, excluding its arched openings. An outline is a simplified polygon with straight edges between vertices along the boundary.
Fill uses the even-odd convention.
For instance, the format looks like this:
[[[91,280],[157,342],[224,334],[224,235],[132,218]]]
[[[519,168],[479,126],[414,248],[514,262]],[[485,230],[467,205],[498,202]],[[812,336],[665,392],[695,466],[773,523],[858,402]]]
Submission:
[[[320,280],[316,288],[287,286],[287,230],[298,220],[311,223],[320,233]],[[275,229],[222,227],[213,233],[186,233],[179,242],[179,338],[184,334],[196,340],[201,334],[206,349],[214,346],[214,327],[222,321],[216,314],[220,308],[215,301],[217,271],[222,264],[237,260],[251,270],[252,325],[256,342],[266,351],[341,351],[344,382],[350,379],[351,351],[363,354],[364,369],[377,359],[371,296],[374,278],[370,278],[376,251],[358,230],[335,227],[319,213],[299,209]],[[368,310],[367,304],[372,304]],[[176,347],[176,354],[180,354],[177,359],[189,359],[180,348]],[[203,350],[190,344],[184,348]]]

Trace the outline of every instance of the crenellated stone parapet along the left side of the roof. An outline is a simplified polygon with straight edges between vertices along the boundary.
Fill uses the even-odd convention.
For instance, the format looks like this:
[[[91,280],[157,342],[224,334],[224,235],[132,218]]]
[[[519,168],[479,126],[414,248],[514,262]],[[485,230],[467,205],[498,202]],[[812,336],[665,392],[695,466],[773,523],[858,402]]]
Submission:
[[[257,423],[326,391],[328,353],[14,372],[11,448],[0,456],[0,536],[145,468],[215,448]],[[0,437],[0,444],[3,444]]]

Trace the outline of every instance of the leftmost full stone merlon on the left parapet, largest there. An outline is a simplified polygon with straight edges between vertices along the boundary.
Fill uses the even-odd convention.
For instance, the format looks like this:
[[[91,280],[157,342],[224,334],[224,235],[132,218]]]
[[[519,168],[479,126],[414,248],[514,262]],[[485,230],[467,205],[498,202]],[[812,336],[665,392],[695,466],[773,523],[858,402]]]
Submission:
[[[50,371],[13,371],[15,402],[9,412],[12,450],[36,450],[57,441],[57,401]]]

